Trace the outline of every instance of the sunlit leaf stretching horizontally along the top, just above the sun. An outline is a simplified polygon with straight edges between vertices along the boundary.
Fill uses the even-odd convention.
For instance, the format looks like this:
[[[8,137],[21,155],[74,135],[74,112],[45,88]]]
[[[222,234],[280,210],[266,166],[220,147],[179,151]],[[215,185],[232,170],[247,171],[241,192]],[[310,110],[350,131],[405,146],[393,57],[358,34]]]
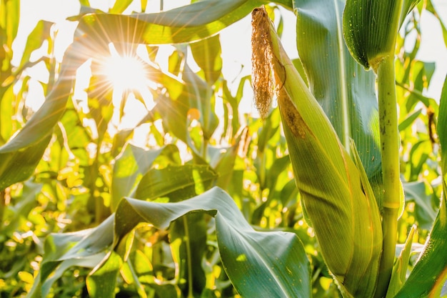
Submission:
[[[291,8],[291,1],[277,2]],[[106,28],[114,32],[108,36],[109,42],[179,44],[214,35],[242,19],[254,7],[267,3],[264,0],[205,0],[156,14],[87,14],[79,21],[78,30],[94,36]]]

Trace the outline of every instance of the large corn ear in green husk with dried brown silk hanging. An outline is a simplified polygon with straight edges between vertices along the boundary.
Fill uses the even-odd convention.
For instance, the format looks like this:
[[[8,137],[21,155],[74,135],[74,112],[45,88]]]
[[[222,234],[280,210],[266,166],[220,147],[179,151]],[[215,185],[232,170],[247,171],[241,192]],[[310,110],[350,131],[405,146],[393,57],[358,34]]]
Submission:
[[[343,297],[373,297],[382,230],[366,174],[288,58],[266,10],[254,9],[252,17],[256,106],[265,116],[276,93],[303,209]]]

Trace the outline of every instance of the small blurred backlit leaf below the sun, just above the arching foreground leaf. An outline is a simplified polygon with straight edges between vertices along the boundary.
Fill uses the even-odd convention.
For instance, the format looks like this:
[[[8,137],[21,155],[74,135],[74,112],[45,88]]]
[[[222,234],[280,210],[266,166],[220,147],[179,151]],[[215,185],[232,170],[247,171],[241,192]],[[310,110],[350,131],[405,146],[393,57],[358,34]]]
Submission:
[[[146,150],[127,144],[114,163],[111,182],[112,210],[116,210],[121,198],[134,194],[139,182],[160,154],[171,154],[176,151],[177,148],[174,145],[168,145],[161,149]]]

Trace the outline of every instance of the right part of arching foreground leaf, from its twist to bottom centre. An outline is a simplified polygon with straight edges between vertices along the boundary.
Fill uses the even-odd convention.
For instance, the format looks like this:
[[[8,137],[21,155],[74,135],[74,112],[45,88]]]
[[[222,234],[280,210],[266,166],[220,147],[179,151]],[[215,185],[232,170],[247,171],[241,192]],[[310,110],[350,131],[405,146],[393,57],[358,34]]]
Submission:
[[[242,297],[255,297],[259,293],[268,297],[311,297],[308,259],[296,235],[255,232],[221,189],[214,188],[178,203],[124,199],[116,214],[115,227],[121,227],[126,218],[138,214],[155,227],[166,229],[171,221],[189,212],[215,216],[221,259]],[[120,236],[125,230],[116,232]]]

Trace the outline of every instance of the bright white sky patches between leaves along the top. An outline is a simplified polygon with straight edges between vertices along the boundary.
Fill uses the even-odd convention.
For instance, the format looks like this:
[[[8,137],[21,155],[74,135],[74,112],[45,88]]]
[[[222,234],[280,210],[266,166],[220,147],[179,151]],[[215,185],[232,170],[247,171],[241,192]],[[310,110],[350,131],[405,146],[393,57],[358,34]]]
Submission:
[[[436,6],[439,12],[443,12],[443,20],[447,22],[447,1],[445,0],[432,0],[433,5]],[[114,0],[90,0],[91,6],[106,11],[109,7],[108,4],[113,5]],[[139,11],[139,1],[134,1],[135,5],[132,8],[135,11]],[[181,4],[188,4],[187,0],[176,1],[164,1],[164,9],[171,9],[172,3],[176,6]],[[148,8],[146,12],[159,11],[160,0],[149,0]],[[291,11],[283,11],[285,18],[284,22],[284,36],[283,45],[291,58],[298,56],[296,52],[296,37],[295,37],[295,16]],[[36,22],[39,19],[45,19],[47,21],[53,21],[56,23],[56,29],[59,30],[58,40],[56,41],[56,59],[61,61],[62,54],[66,47],[71,43],[74,29],[76,29],[76,23],[66,21],[67,16],[77,14],[79,11],[78,0],[21,0],[21,24],[19,26],[19,34],[14,43],[14,53],[20,53],[24,49],[26,43],[26,37],[34,29]],[[422,16],[422,41],[421,49],[418,52],[418,59],[422,61],[435,61],[436,71],[433,75],[430,89],[426,91],[427,96],[431,96],[434,99],[439,99],[441,94],[441,88],[444,79],[447,74],[447,49],[443,43],[441,26],[431,14],[423,14]],[[408,41],[411,42],[411,41]],[[222,70],[224,76],[228,81],[233,81],[240,76],[245,76],[251,73],[251,18],[246,18],[238,21],[236,24],[229,26],[227,29],[221,32],[221,46],[222,57],[224,59],[224,69]],[[31,57],[32,58],[32,57]],[[14,56],[14,61],[17,63],[21,57]],[[241,65],[243,69],[241,72]],[[34,70],[30,70],[29,73],[38,77],[42,81],[46,81],[45,76],[42,77],[42,70],[44,66],[40,68],[36,67]],[[45,71],[43,71],[45,72]],[[36,81],[30,82],[30,89],[42,89],[40,84]],[[31,92],[30,92],[31,93]],[[245,106],[243,112],[256,113],[252,104],[252,91],[249,86],[246,86],[244,92],[243,104]],[[37,106],[43,102],[44,98],[36,99],[33,101]],[[31,103],[30,103],[31,104]],[[34,106],[34,104],[32,104]]]

